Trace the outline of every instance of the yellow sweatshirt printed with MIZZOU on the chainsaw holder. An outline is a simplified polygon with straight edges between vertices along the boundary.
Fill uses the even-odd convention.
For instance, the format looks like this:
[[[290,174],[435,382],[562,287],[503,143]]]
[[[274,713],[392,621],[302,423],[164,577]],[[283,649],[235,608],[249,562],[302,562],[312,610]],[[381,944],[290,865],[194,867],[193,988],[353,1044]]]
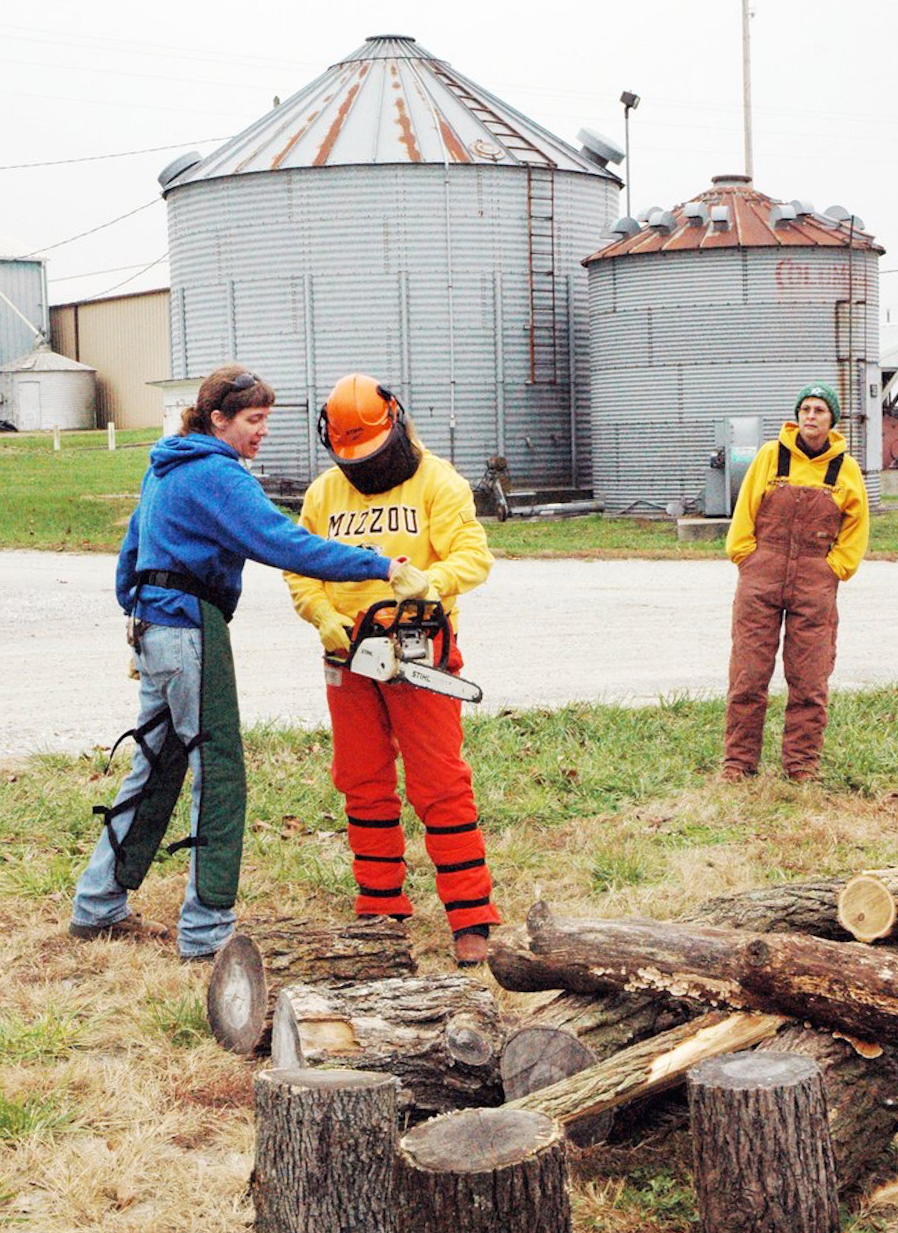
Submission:
[[[453,629],[456,596],[478,587],[493,566],[471,485],[426,449],[410,480],[370,497],[354,488],[339,467],[324,471],[305,492],[299,525],[383,556],[408,556],[436,587]],[[299,573],[285,578],[297,613],[313,624],[323,604],[352,625],[360,612],[393,598],[389,584],[379,581],[319,582]]]

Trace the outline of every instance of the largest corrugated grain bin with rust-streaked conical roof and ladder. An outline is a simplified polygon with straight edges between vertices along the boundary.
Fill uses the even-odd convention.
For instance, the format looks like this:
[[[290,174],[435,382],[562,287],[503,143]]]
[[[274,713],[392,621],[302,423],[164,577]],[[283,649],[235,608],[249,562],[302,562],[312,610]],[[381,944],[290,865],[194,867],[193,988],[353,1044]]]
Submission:
[[[363,371],[469,478],[498,453],[517,486],[589,486],[580,259],[621,181],[620,152],[584,142],[413,38],[367,39],[160,175],[172,377],[256,366],[278,401],[262,466],[301,485],[329,461],[314,430],[329,390]]]

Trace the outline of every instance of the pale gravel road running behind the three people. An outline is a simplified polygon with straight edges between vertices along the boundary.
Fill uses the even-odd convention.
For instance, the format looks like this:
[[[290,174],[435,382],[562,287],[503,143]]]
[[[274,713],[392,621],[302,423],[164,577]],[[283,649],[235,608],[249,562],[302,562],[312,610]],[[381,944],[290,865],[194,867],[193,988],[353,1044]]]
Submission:
[[[722,694],[735,576],[726,561],[498,561],[462,598],[464,676],[490,711]],[[108,746],[134,723],[113,580],[112,556],[0,552],[1,758]],[[841,588],[834,686],[898,677],[896,596],[894,562]],[[230,629],[245,724],[326,724],[318,637],[276,570],[246,566]]]

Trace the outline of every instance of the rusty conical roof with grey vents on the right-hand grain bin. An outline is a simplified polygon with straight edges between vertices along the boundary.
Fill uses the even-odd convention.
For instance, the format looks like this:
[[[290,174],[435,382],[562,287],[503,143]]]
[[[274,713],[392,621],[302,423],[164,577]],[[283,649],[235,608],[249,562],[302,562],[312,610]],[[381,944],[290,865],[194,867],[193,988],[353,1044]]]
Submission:
[[[620,219],[611,239],[585,258],[584,265],[612,256],[679,253],[717,248],[847,248],[884,252],[847,211],[817,213],[807,201],[782,202],[753,187],[746,175],[717,175],[713,187],[671,211],[655,208],[641,219]],[[838,216],[844,216],[841,219]]]

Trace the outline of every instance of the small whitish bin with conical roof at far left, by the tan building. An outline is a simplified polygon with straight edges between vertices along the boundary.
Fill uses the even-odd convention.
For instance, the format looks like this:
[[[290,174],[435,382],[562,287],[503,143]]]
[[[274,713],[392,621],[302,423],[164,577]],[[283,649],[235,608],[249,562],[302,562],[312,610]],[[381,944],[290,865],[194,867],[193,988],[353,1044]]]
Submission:
[[[49,346],[0,367],[0,418],[21,433],[96,427],[96,369]]]

